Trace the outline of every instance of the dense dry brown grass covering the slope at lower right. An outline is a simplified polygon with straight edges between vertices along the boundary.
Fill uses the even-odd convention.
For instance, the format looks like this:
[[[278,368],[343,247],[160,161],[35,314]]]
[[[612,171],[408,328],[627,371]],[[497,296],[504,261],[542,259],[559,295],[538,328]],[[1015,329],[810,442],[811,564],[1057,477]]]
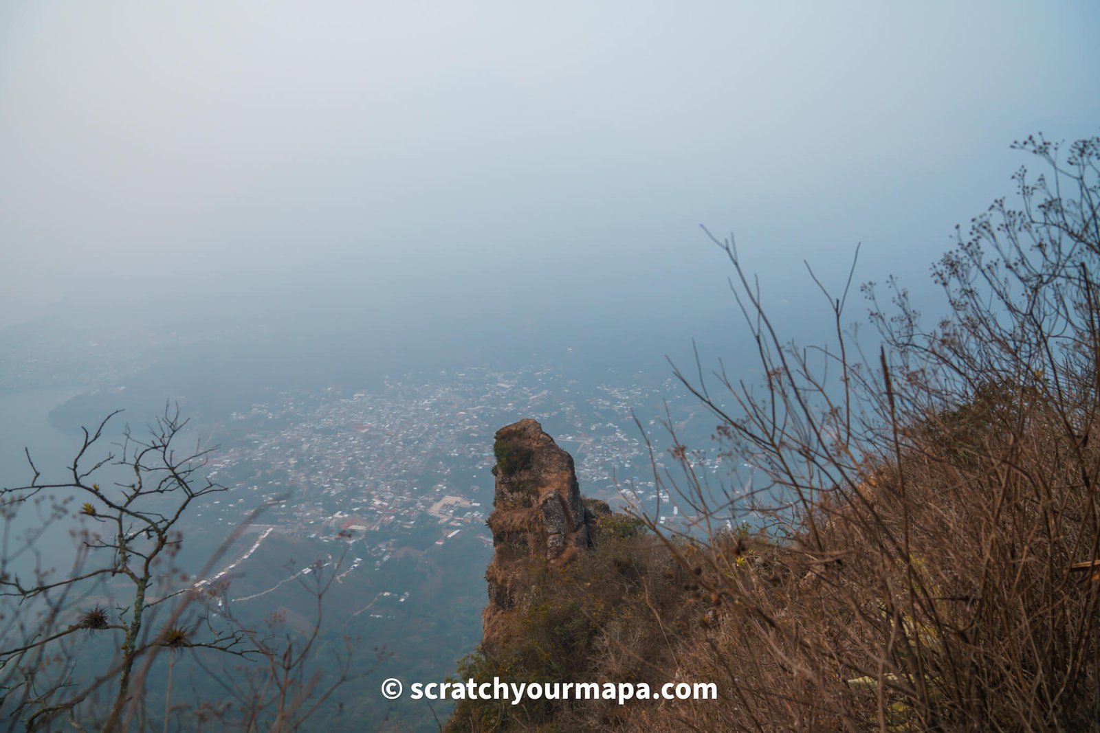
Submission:
[[[667,728],[1096,726],[1100,584],[1075,564],[1097,555],[1078,459],[1100,453],[1034,411],[965,466],[924,434],[873,489],[822,495],[816,538],[715,542],[700,585],[716,619],[682,640],[679,675],[722,702],[669,709]]]

